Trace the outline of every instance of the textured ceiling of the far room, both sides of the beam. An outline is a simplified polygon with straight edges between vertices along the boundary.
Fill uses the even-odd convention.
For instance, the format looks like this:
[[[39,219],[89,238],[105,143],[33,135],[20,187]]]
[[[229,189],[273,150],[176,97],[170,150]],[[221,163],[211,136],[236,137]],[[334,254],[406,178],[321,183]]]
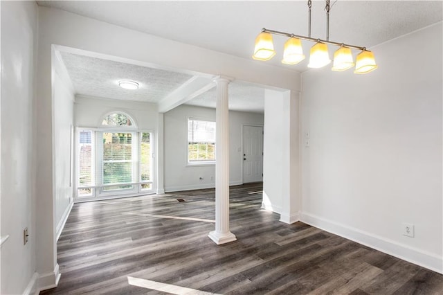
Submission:
[[[60,52],[75,93],[119,100],[135,100],[158,103],[192,75],[125,64],[97,57]],[[134,80],[140,84],[137,90],[122,89],[119,80]],[[187,105],[215,108],[215,88],[206,91]],[[264,89],[252,84],[233,81],[229,84],[229,109],[234,111],[263,112]]]

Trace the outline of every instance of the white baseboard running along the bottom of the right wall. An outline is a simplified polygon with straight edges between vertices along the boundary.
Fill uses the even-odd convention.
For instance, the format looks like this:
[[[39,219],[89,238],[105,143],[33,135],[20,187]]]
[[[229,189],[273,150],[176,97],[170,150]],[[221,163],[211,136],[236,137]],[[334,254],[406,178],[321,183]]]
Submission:
[[[443,257],[437,256],[433,253],[427,253],[426,251],[415,249],[405,244],[400,244],[399,242],[380,237],[379,235],[354,229],[345,224],[326,220],[323,217],[318,217],[310,213],[302,213],[300,221],[443,274]]]

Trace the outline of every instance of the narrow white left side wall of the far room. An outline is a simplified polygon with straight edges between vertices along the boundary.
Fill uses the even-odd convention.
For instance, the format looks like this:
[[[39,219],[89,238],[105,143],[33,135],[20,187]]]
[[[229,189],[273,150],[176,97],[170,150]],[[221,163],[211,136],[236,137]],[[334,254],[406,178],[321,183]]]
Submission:
[[[73,204],[71,127],[74,115],[74,89],[62,60],[56,53],[53,55],[53,100],[55,224],[59,237]]]

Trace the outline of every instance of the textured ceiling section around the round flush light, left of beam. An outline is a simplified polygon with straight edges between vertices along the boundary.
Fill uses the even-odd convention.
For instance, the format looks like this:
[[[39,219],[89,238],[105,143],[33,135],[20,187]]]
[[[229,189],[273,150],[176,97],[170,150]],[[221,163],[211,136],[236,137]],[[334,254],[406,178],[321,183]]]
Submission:
[[[183,73],[96,57],[64,52],[61,55],[75,92],[84,96],[156,103],[192,78]],[[140,86],[137,90],[123,89],[118,86],[119,80],[134,80]]]

